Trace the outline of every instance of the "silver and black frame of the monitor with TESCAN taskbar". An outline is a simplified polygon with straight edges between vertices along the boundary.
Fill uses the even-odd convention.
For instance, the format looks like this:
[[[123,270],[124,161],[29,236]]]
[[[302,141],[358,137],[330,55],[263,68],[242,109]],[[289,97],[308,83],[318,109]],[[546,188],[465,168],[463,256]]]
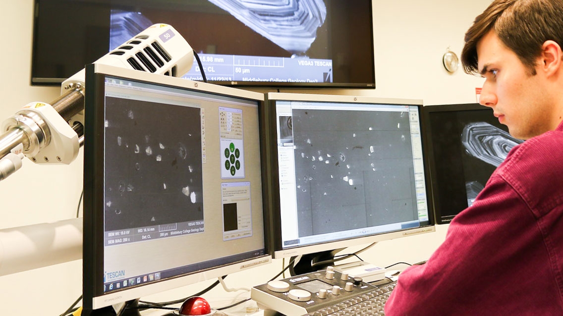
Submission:
[[[104,212],[93,211],[104,209],[104,135],[103,107],[96,107],[104,100],[104,78],[124,78],[138,82],[153,83],[168,87],[176,87],[199,92],[211,92],[224,96],[236,96],[244,100],[258,102],[258,124],[260,112],[264,106],[262,93],[244,91],[241,89],[218,86],[208,83],[194,82],[191,80],[175,78],[170,76],[146,73],[143,71],[123,69],[120,67],[90,64],[86,66],[86,98],[85,98],[85,127],[84,127],[84,220],[83,220],[83,308],[84,310],[95,310],[106,306],[135,300],[139,297],[171,290],[181,286],[190,285],[207,279],[225,276],[226,274],[239,272],[253,268],[258,265],[271,263],[269,254],[269,243],[266,239],[266,200],[262,196],[262,207],[264,213],[264,249],[265,254],[253,259],[246,259],[205,269],[199,272],[185,274],[160,282],[148,283],[146,285],[127,288],[122,291],[114,291],[108,294],[103,292],[103,267],[104,267]],[[96,117],[97,119],[93,119]],[[98,124],[95,124],[94,121]],[[261,129],[261,127],[258,127]],[[261,146],[262,147],[262,146]],[[262,152],[262,148],[260,148]],[[261,181],[265,181],[265,166],[261,166]],[[100,193],[101,192],[101,193]]]

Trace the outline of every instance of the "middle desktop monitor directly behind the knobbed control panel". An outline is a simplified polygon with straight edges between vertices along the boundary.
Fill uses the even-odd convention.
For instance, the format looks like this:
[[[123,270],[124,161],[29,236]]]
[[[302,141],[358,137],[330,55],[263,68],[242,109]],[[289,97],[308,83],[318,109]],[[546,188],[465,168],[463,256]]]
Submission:
[[[422,101],[268,93],[266,105],[275,258],[435,230]]]

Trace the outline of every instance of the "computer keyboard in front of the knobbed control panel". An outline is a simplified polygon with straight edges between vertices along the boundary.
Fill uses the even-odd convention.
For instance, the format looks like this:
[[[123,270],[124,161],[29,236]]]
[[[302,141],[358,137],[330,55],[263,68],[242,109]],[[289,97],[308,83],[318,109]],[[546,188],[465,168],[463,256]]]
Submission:
[[[326,308],[306,314],[307,316],[385,315],[383,308],[397,281],[379,286],[374,290]]]

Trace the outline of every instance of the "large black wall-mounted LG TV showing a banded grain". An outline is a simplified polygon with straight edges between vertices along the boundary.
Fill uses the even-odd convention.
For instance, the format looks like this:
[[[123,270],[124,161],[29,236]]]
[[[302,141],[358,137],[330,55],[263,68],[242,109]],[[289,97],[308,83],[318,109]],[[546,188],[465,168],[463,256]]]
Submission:
[[[211,83],[375,88],[371,0],[35,0],[32,84],[60,84],[157,23]],[[203,79],[195,62],[184,77]]]

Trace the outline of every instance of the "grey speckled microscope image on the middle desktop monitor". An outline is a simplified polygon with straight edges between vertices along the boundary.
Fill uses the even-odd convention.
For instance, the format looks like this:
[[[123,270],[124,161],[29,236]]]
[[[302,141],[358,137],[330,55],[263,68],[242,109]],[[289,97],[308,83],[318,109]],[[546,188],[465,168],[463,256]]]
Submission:
[[[418,219],[408,112],[293,110],[292,127],[300,237]]]

